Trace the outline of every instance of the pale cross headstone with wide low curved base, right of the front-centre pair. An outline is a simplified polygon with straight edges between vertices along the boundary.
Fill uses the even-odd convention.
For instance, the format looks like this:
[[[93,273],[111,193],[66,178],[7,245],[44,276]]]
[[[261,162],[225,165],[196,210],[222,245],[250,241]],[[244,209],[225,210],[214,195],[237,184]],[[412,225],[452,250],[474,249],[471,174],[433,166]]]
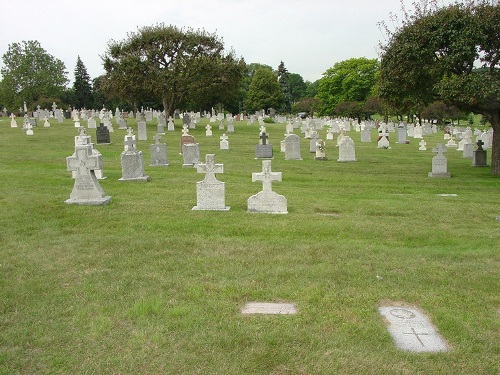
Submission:
[[[252,182],[261,181],[262,191],[248,198],[248,212],[287,214],[287,200],[272,191],[272,182],[281,181],[281,172],[271,171],[271,160],[262,160],[262,172],[252,173]]]

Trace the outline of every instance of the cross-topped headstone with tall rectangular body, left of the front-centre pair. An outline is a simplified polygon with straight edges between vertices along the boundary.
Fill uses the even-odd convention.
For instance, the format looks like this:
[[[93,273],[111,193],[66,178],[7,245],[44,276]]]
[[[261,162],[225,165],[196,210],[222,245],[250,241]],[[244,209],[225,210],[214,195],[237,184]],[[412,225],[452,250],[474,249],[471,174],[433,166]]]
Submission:
[[[226,206],[224,182],[217,180],[216,173],[224,173],[223,164],[215,164],[215,155],[207,154],[205,164],[196,166],[198,173],[205,173],[203,181],[196,183],[196,206],[193,210],[229,211]]]

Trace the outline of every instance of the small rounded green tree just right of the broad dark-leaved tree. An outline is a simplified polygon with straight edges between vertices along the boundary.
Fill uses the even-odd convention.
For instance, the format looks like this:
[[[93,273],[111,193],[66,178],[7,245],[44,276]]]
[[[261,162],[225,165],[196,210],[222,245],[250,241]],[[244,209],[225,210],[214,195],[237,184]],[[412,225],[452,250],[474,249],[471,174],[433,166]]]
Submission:
[[[280,108],[284,102],[278,77],[269,69],[259,68],[255,72],[245,98],[245,109],[255,112],[261,109]]]

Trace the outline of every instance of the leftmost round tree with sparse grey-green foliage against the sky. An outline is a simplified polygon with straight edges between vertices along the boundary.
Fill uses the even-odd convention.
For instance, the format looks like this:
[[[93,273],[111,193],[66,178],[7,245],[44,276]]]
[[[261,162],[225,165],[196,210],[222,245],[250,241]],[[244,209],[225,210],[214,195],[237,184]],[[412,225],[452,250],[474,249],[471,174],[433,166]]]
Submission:
[[[2,56],[0,92],[4,105],[12,109],[26,101],[60,97],[68,83],[64,63],[45,51],[38,41],[9,44]]]

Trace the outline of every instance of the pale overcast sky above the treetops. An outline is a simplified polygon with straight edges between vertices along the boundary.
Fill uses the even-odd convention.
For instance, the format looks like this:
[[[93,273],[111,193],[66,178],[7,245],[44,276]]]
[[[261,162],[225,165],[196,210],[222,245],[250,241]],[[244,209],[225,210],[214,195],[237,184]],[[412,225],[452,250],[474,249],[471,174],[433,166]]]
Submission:
[[[277,69],[283,61],[313,82],[336,62],[377,58],[384,38],[377,22],[401,14],[400,0],[3,0],[1,8],[0,54],[38,40],[70,80],[78,55],[95,78],[109,40],[164,23],[215,32],[247,63]]]

